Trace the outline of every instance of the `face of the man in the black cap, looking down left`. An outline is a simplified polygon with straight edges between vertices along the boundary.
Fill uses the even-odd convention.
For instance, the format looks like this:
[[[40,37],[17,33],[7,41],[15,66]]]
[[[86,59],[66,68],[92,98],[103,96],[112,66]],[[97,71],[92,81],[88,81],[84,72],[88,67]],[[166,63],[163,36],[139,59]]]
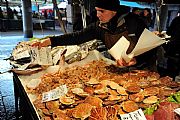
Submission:
[[[105,10],[102,8],[95,7],[97,11],[97,17],[99,18],[100,22],[107,23],[113,18],[117,12],[111,10]]]

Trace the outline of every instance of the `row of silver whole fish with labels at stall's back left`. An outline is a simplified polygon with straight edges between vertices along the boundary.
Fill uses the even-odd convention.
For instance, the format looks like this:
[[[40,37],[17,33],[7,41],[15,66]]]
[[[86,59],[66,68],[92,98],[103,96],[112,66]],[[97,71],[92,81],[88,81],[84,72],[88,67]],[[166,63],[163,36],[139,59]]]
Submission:
[[[97,48],[98,43],[92,40],[80,45],[51,47],[31,47],[33,41],[23,41],[17,44],[9,58],[17,74],[33,74],[61,61],[71,64],[88,56],[89,51]],[[66,50],[65,53],[63,53]],[[62,53],[64,55],[63,59]]]

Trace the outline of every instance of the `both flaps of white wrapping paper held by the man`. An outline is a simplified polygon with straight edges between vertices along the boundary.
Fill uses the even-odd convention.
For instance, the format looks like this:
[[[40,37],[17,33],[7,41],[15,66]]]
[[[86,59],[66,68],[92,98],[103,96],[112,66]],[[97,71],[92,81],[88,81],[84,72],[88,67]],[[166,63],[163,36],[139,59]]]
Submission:
[[[144,29],[141,34],[138,43],[130,54],[126,54],[126,51],[130,45],[129,41],[123,36],[108,52],[116,59],[123,58],[126,62],[129,62],[134,56],[143,54],[157,46],[165,43],[160,37],[152,33],[151,31]]]

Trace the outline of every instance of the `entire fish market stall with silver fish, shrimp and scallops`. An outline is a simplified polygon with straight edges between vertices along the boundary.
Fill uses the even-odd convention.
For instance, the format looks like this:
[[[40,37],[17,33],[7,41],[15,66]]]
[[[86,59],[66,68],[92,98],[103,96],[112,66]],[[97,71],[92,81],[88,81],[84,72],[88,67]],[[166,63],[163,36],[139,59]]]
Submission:
[[[118,67],[92,43],[17,46],[21,49],[11,58],[17,110],[20,101],[22,114],[34,120],[179,120],[180,83],[156,72]]]

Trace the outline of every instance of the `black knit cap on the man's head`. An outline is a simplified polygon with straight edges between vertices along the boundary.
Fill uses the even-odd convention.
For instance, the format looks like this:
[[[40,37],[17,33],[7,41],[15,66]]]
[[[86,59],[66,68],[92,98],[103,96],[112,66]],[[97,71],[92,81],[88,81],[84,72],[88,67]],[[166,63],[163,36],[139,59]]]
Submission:
[[[119,0],[96,0],[95,7],[117,11],[119,9]]]

